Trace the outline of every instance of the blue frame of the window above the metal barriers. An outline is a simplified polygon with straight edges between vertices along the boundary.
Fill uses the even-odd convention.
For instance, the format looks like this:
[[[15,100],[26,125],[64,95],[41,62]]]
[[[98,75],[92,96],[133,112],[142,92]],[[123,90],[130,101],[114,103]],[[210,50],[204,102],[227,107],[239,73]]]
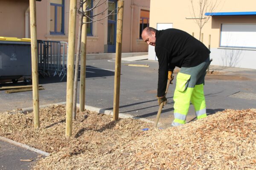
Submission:
[[[65,11],[65,0],[62,0],[62,4],[58,4],[58,3],[50,3],[50,6],[54,6],[55,8],[55,14],[54,14],[54,19],[55,19],[55,23],[54,23],[54,31],[50,31],[51,35],[65,35],[64,33],[64,11]],[[61,32],[57,31],[57,7],[61,6],[62,7],[62,11],[61,11]]]

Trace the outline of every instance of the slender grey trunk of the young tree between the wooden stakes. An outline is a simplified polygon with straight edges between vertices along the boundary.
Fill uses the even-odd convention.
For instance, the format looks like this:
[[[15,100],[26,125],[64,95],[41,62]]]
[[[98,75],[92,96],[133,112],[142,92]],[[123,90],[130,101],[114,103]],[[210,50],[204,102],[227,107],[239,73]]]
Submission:
[[[78,69],[80,60],[80,47],[81,47],[81,32],[83,23],[83,14],[79,14],[79,31],[77,40],[76,50],[76,66],[75,66],[75,77],[74,77],[74,90],[73,90],[73,119],[76,120],[76,97],[77,97],[77,80],[78,80]]]

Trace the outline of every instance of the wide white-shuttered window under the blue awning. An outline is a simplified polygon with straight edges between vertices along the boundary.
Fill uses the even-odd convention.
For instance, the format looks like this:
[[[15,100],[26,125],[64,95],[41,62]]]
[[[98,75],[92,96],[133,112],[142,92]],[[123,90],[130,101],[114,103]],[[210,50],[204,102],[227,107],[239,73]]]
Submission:
[[[256,24],[221,24],[221,47],[256,48]]]

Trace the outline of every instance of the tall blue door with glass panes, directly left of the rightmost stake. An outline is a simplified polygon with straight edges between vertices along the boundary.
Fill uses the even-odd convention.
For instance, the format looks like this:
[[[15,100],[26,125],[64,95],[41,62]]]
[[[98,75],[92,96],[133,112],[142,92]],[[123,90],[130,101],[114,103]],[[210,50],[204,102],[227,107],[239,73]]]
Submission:
[[[116,9],[116,0],[108,0],[108,14]],[[108,16],[108,53],[116,52],[116,10]]]

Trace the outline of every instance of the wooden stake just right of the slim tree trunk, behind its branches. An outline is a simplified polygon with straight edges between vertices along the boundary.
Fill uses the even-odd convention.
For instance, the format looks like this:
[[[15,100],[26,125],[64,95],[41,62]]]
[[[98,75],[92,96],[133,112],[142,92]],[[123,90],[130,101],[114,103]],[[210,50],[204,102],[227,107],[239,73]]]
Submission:
[[[84,0],[83,0],[84,1]],[[87,6],[87,1],[84,3],[83,9],[85,10]],[[82,26],[82,35],[81,35],[81,70],[80,70],[80,112],[84,111],[85,105],[85,70],[86,70],[86,37],[87,30],[85,24],[87,21],[87,17],[83,18],[83,26]]]

